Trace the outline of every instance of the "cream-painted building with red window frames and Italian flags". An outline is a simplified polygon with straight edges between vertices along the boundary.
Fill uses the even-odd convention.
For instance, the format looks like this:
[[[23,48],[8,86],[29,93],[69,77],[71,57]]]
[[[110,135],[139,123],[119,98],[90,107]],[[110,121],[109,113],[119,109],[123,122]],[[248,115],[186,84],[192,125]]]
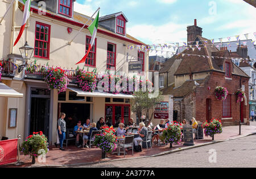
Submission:
[[[6,12],[8,2],[11,1],[0,0],[0,16]],[[13,139],[21,135],[24,139],[31,132],[40,130],[48,136],[50,143],[54,143],[61,112],[73,120],[90,118],[92,122],[97,122],[101,116],[113,123],[118,118],[126,123],[131,116],[135,118],[131,113],[131,95],[85,93],[72,83],[65,93],[58,94],[57,90],[47,91],[42,74],[30,73],[26,68],[18,73],[18,68],[14,68],[13,64],[24,64],[19,48],[26,41],[35,49],[28,64],[34,64],[36,60],[39,66],[48,64],[72,72],[77,68],[75,64],[85,55],[86,44],[91,37],[87,28],[83,28],[71,44],[68,43],[89,17],[73,11],[74,0],[67,0],[67,3],[59,0],[43,2],[46,3],[45,14],[38,7],[38,1],[31,3],[30,18],[15,47],[13,44],[23,18],[22,1],[15,1],[0,26],[0,59],[2,62],[5,60],[0,84],[11,91],[11,94],[4,94],[0,89],[0,138],[6,136]],[[128,45],[145,44],[126,34],[127,26],[128,19],[122,12],[100,17],[95,46],[86,64],[79,64],[79,68],[88,68],[89,71],[97,69],[97,72],[104,73],[111,66],[120,73],[133,75],[144,71],[147,76],[148,52],[127,48]],[[129,62],[138,60],[142,69],[129,72]],[[9,126],[10,109],[17,111],[16,127]]]

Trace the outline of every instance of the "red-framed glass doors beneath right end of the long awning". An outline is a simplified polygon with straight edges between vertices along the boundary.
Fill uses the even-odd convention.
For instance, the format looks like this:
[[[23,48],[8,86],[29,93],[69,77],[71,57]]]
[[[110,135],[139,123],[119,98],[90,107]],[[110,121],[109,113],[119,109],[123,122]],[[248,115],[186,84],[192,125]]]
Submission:
[[[105,120],[108,119],[113,126],[118,123],[119,119],[127,125],[130,119],[130,105],[106,105]]]

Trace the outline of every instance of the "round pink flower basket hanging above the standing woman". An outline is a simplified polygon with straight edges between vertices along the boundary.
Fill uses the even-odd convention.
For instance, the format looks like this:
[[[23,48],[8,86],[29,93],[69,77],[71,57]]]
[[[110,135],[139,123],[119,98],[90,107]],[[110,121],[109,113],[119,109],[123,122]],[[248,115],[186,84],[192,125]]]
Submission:
[[[65,70],[61,68],[48,68],[43,71],[44,81],[47,83],[49,90],[57,89],[64,92],[67,89],[69,79],[65,74]]]

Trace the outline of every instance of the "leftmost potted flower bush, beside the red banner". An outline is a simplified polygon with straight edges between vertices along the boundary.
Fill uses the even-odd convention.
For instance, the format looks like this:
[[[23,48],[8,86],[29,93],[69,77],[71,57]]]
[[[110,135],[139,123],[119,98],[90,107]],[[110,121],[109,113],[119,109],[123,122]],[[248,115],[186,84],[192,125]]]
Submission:
[[[35,159],[42,155],[42,149],[45,151],[45,154],[49,151],[47,138],[40,132],[33,132],[33,135],[30,135],[23,141],[20,151],[24,155],[30,155],[32,157],[32,164],[35,164]]]

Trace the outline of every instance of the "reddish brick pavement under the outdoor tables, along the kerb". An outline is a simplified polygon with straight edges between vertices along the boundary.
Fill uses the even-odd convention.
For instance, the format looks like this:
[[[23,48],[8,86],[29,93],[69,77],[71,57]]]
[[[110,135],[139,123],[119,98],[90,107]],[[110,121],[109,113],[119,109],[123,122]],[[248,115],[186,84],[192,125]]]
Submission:
[[[223,133],[221,135],[214,136],[216,141],[218,140],[226,140],[237,138],[239,132],[239,126],[230,126],[224,127]],[[251,122],[251,126],[242,126],[241,133],[242,135],[249,135],[256,132],[256,122]],[[195,145],[210,143],[212,141],[211,138],[205,137],[204,140],[196,140]],[[185,146],[175,145],[174,148],[170,149],[169,145],[167,146],[154,146],[148,151],[143,149],[142,152],[134,152],[134,156],[131,154],[131,151],[127,152],[125,159],[133,159],[144,156],[152,156],[158,155],[162,152],[174,151],[175,149],[186,148]],[[197,149],[194,149],[197,150]],[[101,159],[101,149],[97,149],[93,147],[92,149],[88,148],[77,148],[75,146],[69,145],[66,151],[60,151],[54,146],[50,147],[49,152],[46,156],[46,163],[38,163],[36,160],[35,165],[31,165],[31,159],[29,156],[22,155],[20,157],[21,161],[24,162],[24,165],[19,167],[30,167],[30,166],[61,166],[61,165],[75,165],[75,164],[86,164],[86,163],[98,163],[101,161],[112,161],[115,159],[124,159],[123,155],[117,156],[116,154],[108,155],[107,159]],[[139,165],[139,164],[138,164]],[[137,165],[135,165],[137,166]],[[2,167],[13,167],[13,164],[3,165]]]

